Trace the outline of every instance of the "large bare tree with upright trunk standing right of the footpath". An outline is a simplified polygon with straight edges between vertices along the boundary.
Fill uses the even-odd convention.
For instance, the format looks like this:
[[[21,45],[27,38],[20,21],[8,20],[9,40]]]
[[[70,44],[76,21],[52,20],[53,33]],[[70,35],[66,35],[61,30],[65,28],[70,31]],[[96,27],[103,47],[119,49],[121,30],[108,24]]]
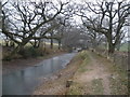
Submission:
[[[123,33],[126,18],[130,15],[130,2],[86,2],[86,5],[87,8],[80,6],[80,13],[75,14],[81,16],[82,23],[88,29],[106,37],[108,54],[113,54]]]

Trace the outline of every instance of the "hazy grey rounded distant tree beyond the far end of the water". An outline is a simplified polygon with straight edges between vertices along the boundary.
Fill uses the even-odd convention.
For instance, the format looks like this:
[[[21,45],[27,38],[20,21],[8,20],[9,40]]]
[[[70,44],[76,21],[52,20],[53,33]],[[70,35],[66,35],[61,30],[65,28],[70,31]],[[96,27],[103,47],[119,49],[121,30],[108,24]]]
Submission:
[[[87,46],[88,36],[82,29],[79,27],[70,27],[66,28],[65,32],[63,33],[62,44],[64,47],[68,50],[73,48],[83,48]]]

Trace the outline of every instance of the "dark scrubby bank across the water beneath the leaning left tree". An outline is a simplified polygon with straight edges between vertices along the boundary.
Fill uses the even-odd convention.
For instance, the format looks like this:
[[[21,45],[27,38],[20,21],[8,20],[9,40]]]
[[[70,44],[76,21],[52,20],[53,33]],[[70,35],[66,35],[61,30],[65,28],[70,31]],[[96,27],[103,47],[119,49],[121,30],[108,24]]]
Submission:
[[[29,43],[24,46],[18,53],[13,55],[11,59],[8,57],[14,50],[14,47],[3,46],[2,48],[2,59],[11,60],[11,59],[22,59],[22,58],[31,58],[31,57],[42,57],[57,52],[65,52],[63,50],[58,50],[57,45],[53,45],[53,48],[50,48],[50,44],[46,44],[46,46],[41,45],[39,47],[32,47]]]

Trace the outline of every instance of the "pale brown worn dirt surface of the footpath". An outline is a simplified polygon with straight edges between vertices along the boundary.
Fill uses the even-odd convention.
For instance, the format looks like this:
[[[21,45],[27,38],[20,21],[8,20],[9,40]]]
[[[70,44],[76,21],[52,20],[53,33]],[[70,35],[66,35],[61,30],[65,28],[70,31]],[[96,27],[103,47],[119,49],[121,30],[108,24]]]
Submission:
[[[93,54],[88,54],[90,58],[90,63],[84,67],[86,71],[81,74],[76,73],[74,77],[74,81],[77,83],[81,84],[91,84],[92,81],[94,80],[102,80],[102,85],[104,88],[103,94],[104,95],[109,95],[110,94],[110,88],[109,88],[109,80],[108,78],[112,77],[112,73],[109,72],[108,68],[106,65],[103,64],[103,59],[99,59],[95,57]],[[87,85],[87,87],[88,87]],[[89,87],[91,88],[91,87]],[[84,94],[91,94],[92,92],[87,92]]]

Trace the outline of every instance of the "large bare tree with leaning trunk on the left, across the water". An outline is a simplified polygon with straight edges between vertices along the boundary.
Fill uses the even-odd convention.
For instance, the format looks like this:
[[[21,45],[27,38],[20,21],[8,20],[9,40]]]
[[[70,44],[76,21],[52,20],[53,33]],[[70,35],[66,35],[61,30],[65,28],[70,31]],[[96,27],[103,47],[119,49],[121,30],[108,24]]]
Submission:
[[[17,47],[12,54],[23,48],[30,40],[51,38],[47,33],[57,27],[57,25],[48,26],[48,24],[63,13],[63,6],[67,4],[58,2],[58,5],[55,5],[50,1],[8,3],[11,5],[11,9],[8,8],[8,4],[2,6],[2,33],[17,43]],[[5,12],[6,10],[8,12]],[[6,29],[5,19],[10,22],[13,29]],[[38,30],[44,25],[47,28],[39,36]]]

